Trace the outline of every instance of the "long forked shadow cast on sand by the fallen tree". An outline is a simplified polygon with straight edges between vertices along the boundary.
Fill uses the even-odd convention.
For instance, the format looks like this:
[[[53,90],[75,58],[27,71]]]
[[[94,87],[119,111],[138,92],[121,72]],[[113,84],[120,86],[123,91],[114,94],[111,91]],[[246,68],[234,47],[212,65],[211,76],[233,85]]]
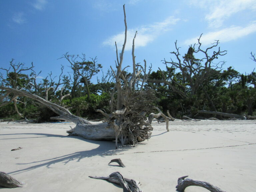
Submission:
[[[18,134],[0,134],[1,135],[40,135],[41,137],[61,137],[61,138],[74,138],[74,139],[80,139],[84,142],[87,143],[92,143],[98,145],[96,148],[91,149],[91,150],[86,150],[86,151],[78,151],[74,153],[70,153],[67,155],[59,156],[59,157],[54,157],[50,159],[44,159],[41,161],[34,161],[34,162],[29,162],[29,163],[17,163],[17,165],[29,165],[29,164],[35,164],[33,166],[27,167],[25,169],[20,169],[17,171],[12,171],[9,172],[8,174],[18,174],[26,171],[30,171],[36,168],[44,167],[46,166],[47,168],[50,168],[51,165],[59,162],[63,162],[65,165],[69,163],[70,161],[77,161],[79,162],[83,158],[88,158],[88,157],[93,157],[93,156],[111,156],[111,155],[117,155],[117,154],[122,154],[122,152],[128,150],[129,148],[133,147],[130,145],[126,145],[124,147],[121,147],[121,143],[119,143],[118,149],[115,149],[115,142],[114,141],[95,141],[95,140],[89,140],[89,139],[84,139],[79,136],[63,136],[63,135],[55,135],[55,134],[44,134],[44,133],[18,133]],[[22,137],[22,138],[34,138],[34,137]],[[14,139],[14,138],[9,138],[9,139]],[[15,139],[21,139],[21,138],[15,138]]]

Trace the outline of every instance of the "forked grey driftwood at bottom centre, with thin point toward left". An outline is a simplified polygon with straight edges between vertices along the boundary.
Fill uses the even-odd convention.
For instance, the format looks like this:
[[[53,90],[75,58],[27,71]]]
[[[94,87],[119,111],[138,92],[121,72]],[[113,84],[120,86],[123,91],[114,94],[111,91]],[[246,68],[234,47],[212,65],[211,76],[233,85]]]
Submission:
[[[109,177],[97,177],[97,176],[89,176],[93,179],[101,179],[106,180],[111,183],[116,183],[122,186],[123,192],[143,192],[139,186],[139,182],[133,179],[124,178],[121,173],[114,172],[109,175]]]

